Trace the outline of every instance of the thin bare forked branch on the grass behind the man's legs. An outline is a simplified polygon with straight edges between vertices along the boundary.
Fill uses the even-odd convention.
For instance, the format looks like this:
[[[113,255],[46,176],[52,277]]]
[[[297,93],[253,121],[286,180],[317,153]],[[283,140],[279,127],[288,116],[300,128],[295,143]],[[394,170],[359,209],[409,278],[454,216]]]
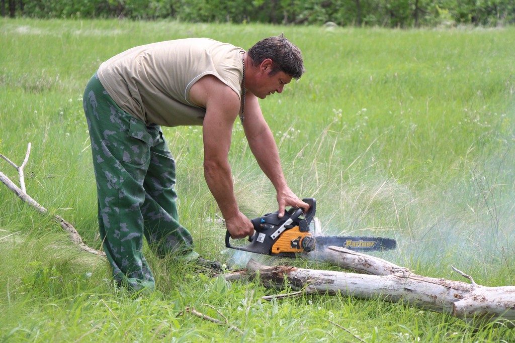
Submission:
[[[27,147],[27,153],[25,154],[25,159],[23,160],[23,163],[21,166],[17,166],[14,164],[9,158],[4,156],[3,154],[0,154],[0,157],[5,159],[11,166],[13,166],[17,171],[20,179],[20,187],[16,186],[11,179],[6,176],[4,173],[0,172],[0,182],[2,182],[4,185],[7,186],[14,194],[18,195],[18,197],[23,200],[25,203],[29,204],[32,208],[40,212],[41,214],[50,215],[52,216],[52,219],[57,222],[61,228],[63,228],[64,231],[68,233],[68,237],[70,237],[70,240],[75,243],[81,250],[91,252],[92,254],[99,255],[99,256],[105,256],[104,251],[95,250],[93,248],[90,248],[89,246],[85,245],[82,241],[82,238],[80,237],[80,234],[77,232],[75,227],[73,227],[72,224],[68,223],[64,219],[62,219],[57,214],[51,214],[48,212],[46,208],[41,206],[36,200],[34,200],[31,196],[29,196],[25,189],[25,177],[23,168],[26,166],[27,161],[29,159],[30,155],[30,147],[31,144],[28,143]]]

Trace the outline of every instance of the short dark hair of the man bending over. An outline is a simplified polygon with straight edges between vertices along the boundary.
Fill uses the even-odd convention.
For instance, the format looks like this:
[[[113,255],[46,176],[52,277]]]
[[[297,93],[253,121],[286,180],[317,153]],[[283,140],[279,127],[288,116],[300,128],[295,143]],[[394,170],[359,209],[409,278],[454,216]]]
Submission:
[[[268,37],[254,44],[247,52],[252,65],[259,66],[267,58],[271,59],[272,75],[279,71],[299,79],[304,73],[304,63],[300,49],[288,41],[284,34]]]

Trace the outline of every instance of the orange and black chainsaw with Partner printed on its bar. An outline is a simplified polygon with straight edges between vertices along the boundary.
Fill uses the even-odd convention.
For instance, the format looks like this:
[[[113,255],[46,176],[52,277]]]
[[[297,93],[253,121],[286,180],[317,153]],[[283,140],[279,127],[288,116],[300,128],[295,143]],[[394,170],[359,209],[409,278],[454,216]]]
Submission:
[[[397,242],[391,238],[359,236],[314,236],[312,222],[319,225],[315,218],[316,201],[304,198],[310,205],[306,213],[301,208],[290,208],[279,218],[279,211],[267,213],[251,220],[254,234],[249,237],[250,244],[232,245],[231,235],[226,232],[226,247],[271,256],[295,257],[296,254],[321,251],[330,245],[344,247],[353,251],[382,251],[395,249]],[[319,228],[315,227],[315,233]]]

